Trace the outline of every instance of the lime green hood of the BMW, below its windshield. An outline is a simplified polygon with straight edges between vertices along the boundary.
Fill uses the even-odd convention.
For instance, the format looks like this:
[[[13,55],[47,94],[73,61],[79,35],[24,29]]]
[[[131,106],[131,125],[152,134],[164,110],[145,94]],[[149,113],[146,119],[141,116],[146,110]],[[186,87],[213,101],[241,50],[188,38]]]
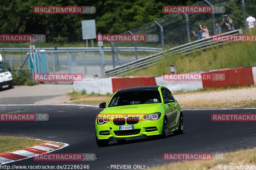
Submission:
[[[139,105],[126,105],[106,107],[100,114],[151,114],[161,107],[163,103],[152,104],[139,104]]]

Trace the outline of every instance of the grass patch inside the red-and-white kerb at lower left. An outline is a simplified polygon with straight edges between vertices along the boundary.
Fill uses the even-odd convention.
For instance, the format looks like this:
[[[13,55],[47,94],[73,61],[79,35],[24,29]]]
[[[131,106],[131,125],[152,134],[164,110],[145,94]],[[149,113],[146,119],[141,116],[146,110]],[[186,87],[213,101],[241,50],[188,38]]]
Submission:
[[[45,142],[21,137],[0,136],[0,154],[30,148]]]

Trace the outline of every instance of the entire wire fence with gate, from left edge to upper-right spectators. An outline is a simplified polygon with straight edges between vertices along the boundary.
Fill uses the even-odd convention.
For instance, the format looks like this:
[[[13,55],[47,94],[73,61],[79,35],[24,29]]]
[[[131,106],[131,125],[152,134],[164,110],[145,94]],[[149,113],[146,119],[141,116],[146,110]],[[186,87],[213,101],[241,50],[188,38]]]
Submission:
[[[244,2],[244,5],[243,5]],[[40,57],[39,70],[35,73],[82,73],[87,75],[102,75],[102,66],[105,70],[111,70],[118,65],[131,63],[137,59],[154,55],[163,49],[170,49],[192,41],[196,41],[193,31],[199,28],[199,22],[206,26],[210,35],[215,34],[215,23],[222,29],[221,33],[227,32],[222,26],[224,15],[229,15],[233,20],[235,29],[243,29],[247,32],[245,19],[251,13],[256,16],[256,0],[204,0],[192,6],[225,6],[223,14],[166,14],[164,17],[152,21],[146,25],[134,28],[121,34],[157,34],[157,42],[114,42],[111,47],[103,47],[104,61],[100,60],[100,50],[84,48],[83,50],[67,49],[61,51],[55,45],[54,49],[46,49],[41,43],[35,42],[36,48],[46,49],[43,58]],[[162,9],[159,9],[162,10]],[[26,69],[30,69],[31,61],[25,58],[29,50],[29,44],[0,42],[0,51],[3,61],[12,64],[12,69],[18,69],[23,63]],[[44,46],[44,45],[43,45]],[[13,48],[9,50],[6,48]],[[15,48],[15,49],[14,49]],[[23,48],[28,48],[24,50]],[[32,64],[33,65],[33,64]]]

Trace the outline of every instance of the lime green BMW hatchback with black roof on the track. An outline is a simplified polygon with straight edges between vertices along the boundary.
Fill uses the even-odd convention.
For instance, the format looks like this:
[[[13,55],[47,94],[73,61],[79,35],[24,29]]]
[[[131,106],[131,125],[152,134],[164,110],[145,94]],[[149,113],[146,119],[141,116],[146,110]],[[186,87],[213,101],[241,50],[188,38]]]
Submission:
[[[183,113],[164,86],[139,86],[116,91],[95,120],[96,142],[107,146],[110,140],[183,133]]]

